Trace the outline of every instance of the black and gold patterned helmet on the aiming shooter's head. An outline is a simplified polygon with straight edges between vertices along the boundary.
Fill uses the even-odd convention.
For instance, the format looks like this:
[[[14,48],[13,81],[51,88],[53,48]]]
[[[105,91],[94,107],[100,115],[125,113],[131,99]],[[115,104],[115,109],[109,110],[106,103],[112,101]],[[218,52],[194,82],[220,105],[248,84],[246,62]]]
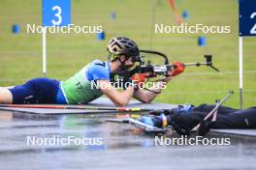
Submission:
[[[110,52],[110,60],[113,61],[122,55],[133,57],[133,61],[140,60],[140,50],[138,45],[130,39],[124,37],[112,38],[109,42],[108,51]]]

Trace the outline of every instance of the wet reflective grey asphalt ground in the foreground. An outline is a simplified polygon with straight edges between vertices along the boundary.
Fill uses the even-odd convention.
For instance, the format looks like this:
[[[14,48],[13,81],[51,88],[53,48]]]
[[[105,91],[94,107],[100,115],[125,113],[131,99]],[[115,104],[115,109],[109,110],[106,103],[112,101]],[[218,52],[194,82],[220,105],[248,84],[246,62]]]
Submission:
[[[0,111],[0,169],[256,169],[253,137],[233,136],[229,146],[155,146],[154,135],[107,118],[114,117]],[[28,145],[28,136],[92,145]]]

